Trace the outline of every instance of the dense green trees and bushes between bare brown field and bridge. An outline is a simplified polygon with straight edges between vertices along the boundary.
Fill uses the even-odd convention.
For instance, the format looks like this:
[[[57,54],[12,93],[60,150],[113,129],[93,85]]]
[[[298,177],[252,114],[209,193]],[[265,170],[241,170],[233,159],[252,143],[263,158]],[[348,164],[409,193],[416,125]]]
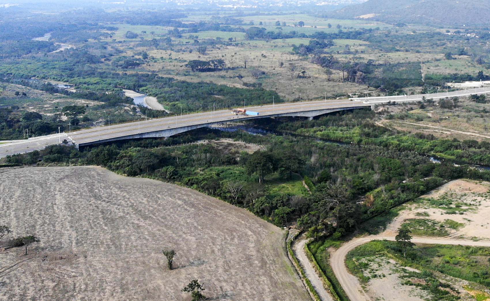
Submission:
[[[374,129],[371,136],[391,137],[384,129],[368,125],[371,114],[356,112],[308,123],[348,127],[365,123]],[[241,139],[267,150],[249,154],[213,144],[171,146],[197,139],[194,135],[130,141],[85,151],[53,146],[9,157],[7,162],[96,164],[128,176],[176,182],[245,207],[278,226],[297,220],[299,226],[310,229],[312,237],[329,233],[340,237],[372,217],[390,216],[390,208],[413,201],[450,179],[489,178],[487,172],[434,164],[416,152],[383,145],[338,145],[301,137],[216,132],[209,137]],[[396,133],[392,135],[396,137]],[[301,185],[303,178],[308,189]],[[361,204],[359,198],[366,201]]]

